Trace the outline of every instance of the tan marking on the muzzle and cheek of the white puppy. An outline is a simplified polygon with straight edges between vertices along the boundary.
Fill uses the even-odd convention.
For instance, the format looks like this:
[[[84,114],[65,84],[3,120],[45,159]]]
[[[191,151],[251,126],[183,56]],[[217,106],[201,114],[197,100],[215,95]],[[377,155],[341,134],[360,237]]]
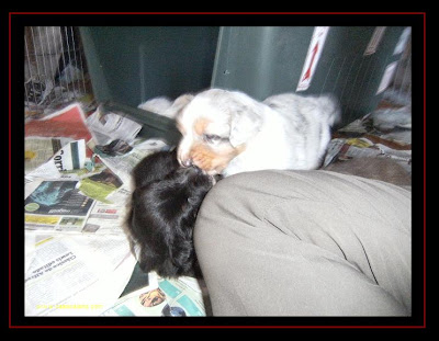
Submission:
[[[243,152],[245,146],[239,148],[223,148],[221,151],[215,151],[203,144],[195,144],[190,150],[192,162],[207,172],[207,174],[221,173],[230,162],[233,158]]]

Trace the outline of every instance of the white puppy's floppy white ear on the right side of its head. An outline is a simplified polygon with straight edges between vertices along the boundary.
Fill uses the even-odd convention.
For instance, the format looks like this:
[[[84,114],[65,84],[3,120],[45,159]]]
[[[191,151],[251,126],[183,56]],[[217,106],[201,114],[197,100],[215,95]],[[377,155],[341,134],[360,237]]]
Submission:
[[[233,147],[246,143],[255,136],[262,125],[262,117],[257,110],[247,109],[232,114],[229,141]]]

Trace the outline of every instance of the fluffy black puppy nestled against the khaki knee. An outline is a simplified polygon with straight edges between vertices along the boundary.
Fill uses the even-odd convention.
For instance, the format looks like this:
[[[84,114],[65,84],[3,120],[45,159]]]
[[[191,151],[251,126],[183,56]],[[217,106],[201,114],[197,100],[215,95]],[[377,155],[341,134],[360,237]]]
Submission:
[[[198,168],[181,168],[176,151],[146,157],[133,177],[127,229],[140,269],[162,277],[200,276],[192,232],[215,180]]]

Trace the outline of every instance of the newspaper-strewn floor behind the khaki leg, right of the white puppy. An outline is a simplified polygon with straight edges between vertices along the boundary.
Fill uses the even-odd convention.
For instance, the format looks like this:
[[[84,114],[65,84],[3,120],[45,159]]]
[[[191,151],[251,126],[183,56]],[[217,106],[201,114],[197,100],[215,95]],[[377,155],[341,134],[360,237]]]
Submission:
[[[322,168],[410,190],[410,96],[390,89],[375,111],[334,132]]]

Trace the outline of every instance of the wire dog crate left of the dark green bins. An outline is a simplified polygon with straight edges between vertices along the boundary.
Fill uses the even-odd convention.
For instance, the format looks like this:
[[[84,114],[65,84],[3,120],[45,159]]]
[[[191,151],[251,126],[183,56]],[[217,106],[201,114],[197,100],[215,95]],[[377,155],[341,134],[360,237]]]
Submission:
[[[78,27],[26,26],[24,33],[26,116],[50,113],[91,94]]]

